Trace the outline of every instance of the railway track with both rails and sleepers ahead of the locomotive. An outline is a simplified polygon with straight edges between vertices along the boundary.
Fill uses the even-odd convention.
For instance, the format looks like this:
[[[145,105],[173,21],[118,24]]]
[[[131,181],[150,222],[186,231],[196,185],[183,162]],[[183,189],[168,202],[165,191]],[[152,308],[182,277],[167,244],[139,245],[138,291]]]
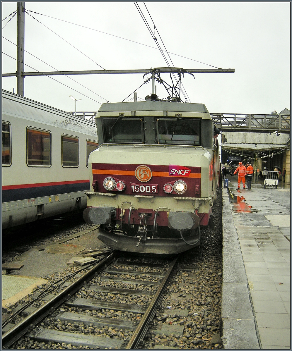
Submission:
[[[155,316],[179,256],[168,265],[133,263],[115,256],[116,252],[112,252],[104,257],[72,284],[4,333],[2,347],[7,349],[26,334],[26,337],[45,344],[66,344],[69,347],[82,345],[93,349],[137,349]],[[111,261],[110,266],[106,267]],[[94,294],[95,298],[85,293],[84,286],[86,291],[90,291],[90,296]],[[146,297],[147,303],[141,303],[140,297]],[[129,303],[131,300],[137,300],[138,303]],[[60,309],[60,305],[64,308]],[[59,313],[56,315],[57,310]],[[76,311],[87,313],[75,313]],[[90,315],[88,311],[96,313]],[[105,311],[109,312],[111,317],[104,317]],[[117,318],[122,313],[130,318]],[[134,315],[140,320],[138,324],[132,321],[131,317]],[[39,326],[44,318],[56,320],[56,329],[42,327],[44,323]],[[93,329],[106,330],[107,333],[92,336],[72,333],[72,330],[66,331],[66,327],[63,327],[80,324],[94,325]],[[120,330],[127,331],[128,336],[125,339],[116,336]]]

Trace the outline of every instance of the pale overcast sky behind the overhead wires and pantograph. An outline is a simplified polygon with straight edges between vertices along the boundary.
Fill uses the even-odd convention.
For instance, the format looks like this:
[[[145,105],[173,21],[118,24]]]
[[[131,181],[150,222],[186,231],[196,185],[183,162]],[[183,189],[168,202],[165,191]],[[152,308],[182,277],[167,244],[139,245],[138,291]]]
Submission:
[[[170,54],[175,67],[235,69],[235,73],[198,73],[195,80],[185,75],[182,83],[190,102],[204,103],[213,113],[270,114],[290,109],[290,2],[145,2],[147,9],[143,2],[138,4],[154,31],[148,9],[167,51],[188,58]],[[4,19],[17,9],[17,2],[1,1],[1,6]],[[161,53],[148,47],[156,44],[134,2],[36,1],[25,2],[25,9],[41,14],[30,12],[39,22],[25,14],[25,64],[33,67],[25,66],[26,72],[167,66]],[[9,18],[2,20],[2,28]],[[2,29],[2,37],[17,43],[17,16]],[[17,51],[6,39],[2,38],[2,73],[12,73]],[[68,87],[49,77],[26,77],[25,97],[74,111],[75,102],[69,98],[73,95],[82,99],[77,111],[97,111],[98,102],[120,102],[143,83],[143,74],[69,77],[91,91],[68,77],[52,76]],[[162,78],[168,81],[169,75]],[[16,92],[16,78],[2,78],[2,88]],[[151,94],[151,83],[137,93],[144,100]],[[157,95],[168,96],[161,85]]]

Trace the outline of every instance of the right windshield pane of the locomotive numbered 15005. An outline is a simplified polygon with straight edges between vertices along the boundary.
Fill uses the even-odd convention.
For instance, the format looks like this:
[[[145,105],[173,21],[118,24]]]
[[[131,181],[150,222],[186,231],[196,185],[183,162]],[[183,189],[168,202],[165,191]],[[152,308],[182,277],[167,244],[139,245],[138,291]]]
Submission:
[[[201,120],[160,118],[158,133],[160,144],[201,145]]]

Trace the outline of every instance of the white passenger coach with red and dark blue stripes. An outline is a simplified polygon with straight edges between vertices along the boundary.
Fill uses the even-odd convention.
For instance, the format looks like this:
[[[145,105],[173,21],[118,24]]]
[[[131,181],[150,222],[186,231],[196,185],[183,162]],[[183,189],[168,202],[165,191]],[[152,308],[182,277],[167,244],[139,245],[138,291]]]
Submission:
[[[96,126],[2,91],[2,229],[86,207]]]

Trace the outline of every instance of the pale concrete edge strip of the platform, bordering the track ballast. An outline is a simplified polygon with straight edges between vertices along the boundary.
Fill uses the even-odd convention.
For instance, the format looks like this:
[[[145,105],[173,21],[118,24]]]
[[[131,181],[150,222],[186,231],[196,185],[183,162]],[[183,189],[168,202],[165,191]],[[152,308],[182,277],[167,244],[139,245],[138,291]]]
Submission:
[[[227,188],[222,189],[223,284],[221,298],[224,349],[261,349],[238,234]]]

